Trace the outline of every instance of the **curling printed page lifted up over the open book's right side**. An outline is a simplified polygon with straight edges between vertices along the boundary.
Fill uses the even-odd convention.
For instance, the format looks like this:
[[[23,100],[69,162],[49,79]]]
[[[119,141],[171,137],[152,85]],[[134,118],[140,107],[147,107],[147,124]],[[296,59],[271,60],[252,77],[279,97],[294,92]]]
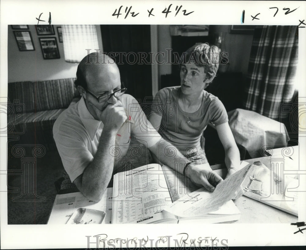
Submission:
[[[216,211],[236,196],[236,192],[241,189],[241,185],[244,185],[243,182],[250,170],[251,164],[219,183],[214,192],[201,188],[175,201],[165,210],[179,217],[203,216]]]

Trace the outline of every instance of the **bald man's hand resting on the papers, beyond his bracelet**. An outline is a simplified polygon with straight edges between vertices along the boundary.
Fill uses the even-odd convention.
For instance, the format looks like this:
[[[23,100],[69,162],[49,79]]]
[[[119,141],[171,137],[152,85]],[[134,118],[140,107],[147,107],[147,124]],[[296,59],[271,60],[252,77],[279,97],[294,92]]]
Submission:
[[[193,183],[203,186],[210,192],[213,192],[215,186],[223,181],[223,179],[215,172],[211,170],[203,170],[193,164],[188,167],[187,175]]]

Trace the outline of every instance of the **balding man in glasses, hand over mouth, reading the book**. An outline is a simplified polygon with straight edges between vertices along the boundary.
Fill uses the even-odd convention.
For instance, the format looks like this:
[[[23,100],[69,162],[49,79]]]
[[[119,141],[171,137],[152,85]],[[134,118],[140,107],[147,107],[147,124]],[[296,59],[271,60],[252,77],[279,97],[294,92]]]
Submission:
[[[118,159],[111,150],[116,146],[125,155],[131,132],[151,153],[160,156],[160,162],[194,183],[213,191],[222,181],[214,172],[188,162],[178,150],[176,156],[182,164],[174,166],[173,156],[164,153],[171,144],[147,121],[137,101],[124,94],[119,69],[107,55],[91,53],[84,57],[77,68],[75,85],[81,99],[58,117],[53,136],[71,182],[88,199],[101,200],[112,175],[118,171]],[[131,109],[138,112],[130,112]]]

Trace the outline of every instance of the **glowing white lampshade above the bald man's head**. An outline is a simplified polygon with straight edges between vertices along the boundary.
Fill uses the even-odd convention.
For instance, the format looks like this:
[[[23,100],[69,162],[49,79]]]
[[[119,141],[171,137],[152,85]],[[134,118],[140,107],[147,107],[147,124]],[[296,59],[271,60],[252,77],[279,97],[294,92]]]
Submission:
[[[66,62],[80,62],[88,54],[99,49],[95,25],[62,25]]]

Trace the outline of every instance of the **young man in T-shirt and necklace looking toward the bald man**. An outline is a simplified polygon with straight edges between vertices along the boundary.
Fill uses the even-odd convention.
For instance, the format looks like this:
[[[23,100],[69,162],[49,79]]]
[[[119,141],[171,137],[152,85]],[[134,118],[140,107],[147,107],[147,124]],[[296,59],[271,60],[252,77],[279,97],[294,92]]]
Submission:
[[[180,86],[163,88],[156,94],[149,121],[194,164],[207,163],[201,137],[212,123],[225,149],[228,175],[233,174],[240,166],[240,155],[226,109],[218,97],[204,90],[218,71],[219,48],[196,44],[183,53],[181,62]]]

